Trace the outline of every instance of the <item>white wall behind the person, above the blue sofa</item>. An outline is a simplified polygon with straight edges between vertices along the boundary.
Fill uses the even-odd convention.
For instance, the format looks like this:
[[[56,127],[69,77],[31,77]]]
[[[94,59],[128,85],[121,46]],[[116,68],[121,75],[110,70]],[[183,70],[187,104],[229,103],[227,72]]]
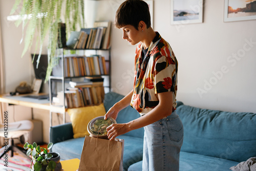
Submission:
[[[97,2],[94,18],[114,21],[122,2]],[[224,23],[220,0],[205,0],[203,16],[201,24],[170,25],[170,1],[154,1],[154,30],[179,61],[177,100],[200,108],[256,112],[256,20]],[[113,91],[125,95],[132,90],[134,53],[135,47],[113,29]]]

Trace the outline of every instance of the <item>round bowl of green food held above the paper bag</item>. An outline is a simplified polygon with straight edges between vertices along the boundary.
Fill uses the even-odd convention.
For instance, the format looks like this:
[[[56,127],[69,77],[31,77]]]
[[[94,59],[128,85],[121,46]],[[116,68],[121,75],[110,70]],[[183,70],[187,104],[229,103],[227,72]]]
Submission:
[[[116,123],[115,119],[108,118],[104,120],[104,116],[99,116],[94,119],[92,119],[89,122],[89,131],[94,135],[104,136],[107,134],[106,127],[112,125],[113,123]]]

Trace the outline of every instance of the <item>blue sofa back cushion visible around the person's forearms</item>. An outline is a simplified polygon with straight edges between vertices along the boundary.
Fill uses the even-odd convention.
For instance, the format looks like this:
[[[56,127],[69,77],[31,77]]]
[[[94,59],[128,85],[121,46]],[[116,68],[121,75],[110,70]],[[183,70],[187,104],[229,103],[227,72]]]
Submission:
[[[105,97],[104,97],[105,110],[108,111],[116,102],[121,100],[123,97],[124,97],[123,95],[120,95],[120,94],[117,94],[114,92],[105,94]],[[121,110],[118,113],[116,122],[117,123],[127,123],[127,122],[134,120],[136,118],[139,118],[139,117],[140,117],[140,114],[135,109],[133,109],[131,106],[127,106],[126,108],[124,108],[123,110]],[[143,138],[144,129],[143,129],[143,127],[141,127],[140,129],[130,131],[130,132],[126,133],[125,135]]]

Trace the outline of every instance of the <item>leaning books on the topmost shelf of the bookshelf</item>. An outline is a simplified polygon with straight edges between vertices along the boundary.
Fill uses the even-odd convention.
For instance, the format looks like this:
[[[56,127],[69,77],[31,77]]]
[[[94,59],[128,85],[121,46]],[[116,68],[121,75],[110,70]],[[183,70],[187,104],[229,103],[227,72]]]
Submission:
[[[67,41],[70,49],[109,49],[111,22],[95,22],[95,28],[73,31]]]

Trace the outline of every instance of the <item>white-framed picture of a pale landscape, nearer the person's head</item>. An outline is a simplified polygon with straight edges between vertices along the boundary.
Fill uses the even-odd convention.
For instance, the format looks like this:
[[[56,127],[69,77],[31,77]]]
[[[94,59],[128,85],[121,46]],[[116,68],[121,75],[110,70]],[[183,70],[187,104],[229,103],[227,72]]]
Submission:
[[[203,23],[203,0],[170,0],[170,24]]]

